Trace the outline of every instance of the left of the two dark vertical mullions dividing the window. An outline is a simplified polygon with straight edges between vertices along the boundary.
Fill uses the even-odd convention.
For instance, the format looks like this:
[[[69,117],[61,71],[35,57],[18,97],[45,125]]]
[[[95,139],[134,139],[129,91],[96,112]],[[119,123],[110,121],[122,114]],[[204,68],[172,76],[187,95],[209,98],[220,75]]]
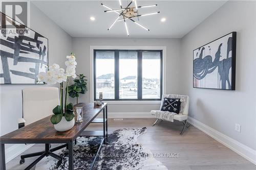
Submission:
[[[119,51],[115,50],[115,100],[119,100]]]

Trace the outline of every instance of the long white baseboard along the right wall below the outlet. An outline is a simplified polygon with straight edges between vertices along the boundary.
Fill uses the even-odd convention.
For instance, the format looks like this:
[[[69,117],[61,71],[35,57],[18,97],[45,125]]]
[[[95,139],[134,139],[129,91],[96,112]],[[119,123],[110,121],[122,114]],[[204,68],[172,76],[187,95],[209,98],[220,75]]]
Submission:
[[[237,140],[234,140],[219,131],[208,127],[207,125],[199,122],[198,120],[188,116],[187,119],[188,123],[193,125],[194,127],[198,128],[199,130],[203,131],[210,137],[216,139],[220,143],[224,144],[227,148],[231,149],[232,151],[236,152],[237,154],[241,155],[248,161],[256,164],[256,151],[247,147],[246,145],[240,143]]]

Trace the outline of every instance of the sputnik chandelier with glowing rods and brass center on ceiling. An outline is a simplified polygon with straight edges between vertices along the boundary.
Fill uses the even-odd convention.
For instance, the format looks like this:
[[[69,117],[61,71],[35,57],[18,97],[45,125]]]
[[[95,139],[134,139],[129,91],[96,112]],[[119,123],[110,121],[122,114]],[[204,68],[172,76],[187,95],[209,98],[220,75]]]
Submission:
[[[131,7],[132,4],[135,4],[135,7]],[[141,28],[145,29],[146,31],[150,31],[149,29],[145,28],[144,26],[142,26],[141,24],[139,24],[137,21],[135,21],[133,18],[137,17],[139,19],[140,16],[147,16],[147,15],[154,15],[154,14],[158,14],[160,13],[160,11],[158,12],[153,12],[153,13],[147,13],[147,14],[139,14],[139,8],[148,8],[148,7],[156,7],[157,4],[154,5],[144,5],[144,6],[137,6],[137,2],[136,0],[131,1],[126,8],[122,7],[121,4],[121,0],[119,0],[119,4],[120,4],[120,8],[119,9],[112,9],[104,4],[101,4],[103,7],[107,8],[108,10],[104,11],[104,12],[115,12],[118,14],[118,17],[116,18],[116,20],[111,24],[111,26],[108,28],[108,30],[110,30],[114,24],[117,21],[123,21],[124,22],[124,26],[125,26],[125,30],[127,33],[127,36],[129,36],[129,31],[126,25],[126,21],[127,19],[133,21],[134,23],[136,23],[136,25],[140,26]]]

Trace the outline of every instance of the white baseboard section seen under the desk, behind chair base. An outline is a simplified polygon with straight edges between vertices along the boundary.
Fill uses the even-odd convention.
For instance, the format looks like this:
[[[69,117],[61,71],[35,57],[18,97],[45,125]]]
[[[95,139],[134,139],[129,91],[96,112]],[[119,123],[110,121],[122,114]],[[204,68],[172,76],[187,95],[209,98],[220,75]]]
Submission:
[[[34,144],[13,144],[5,150],[5,162],[9,162],[19,154],[31,148]]]

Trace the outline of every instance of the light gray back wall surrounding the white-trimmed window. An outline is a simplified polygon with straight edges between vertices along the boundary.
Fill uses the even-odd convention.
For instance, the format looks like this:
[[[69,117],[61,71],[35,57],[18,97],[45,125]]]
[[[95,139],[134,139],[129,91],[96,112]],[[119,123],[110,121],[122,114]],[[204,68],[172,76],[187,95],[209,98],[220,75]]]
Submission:
[[[77,56],[77,72],[88,76],[90,82],[90,45],[110,46],[166,46],[167,93],[179,93],[180,39],[157,38],[73,38],[73,51]],[[90,84],[90,83],[89,83]],[[79,101],[90,102],[90,87]],[[110,112],[150,112],[159,109],[159,104],[110,105]]]

